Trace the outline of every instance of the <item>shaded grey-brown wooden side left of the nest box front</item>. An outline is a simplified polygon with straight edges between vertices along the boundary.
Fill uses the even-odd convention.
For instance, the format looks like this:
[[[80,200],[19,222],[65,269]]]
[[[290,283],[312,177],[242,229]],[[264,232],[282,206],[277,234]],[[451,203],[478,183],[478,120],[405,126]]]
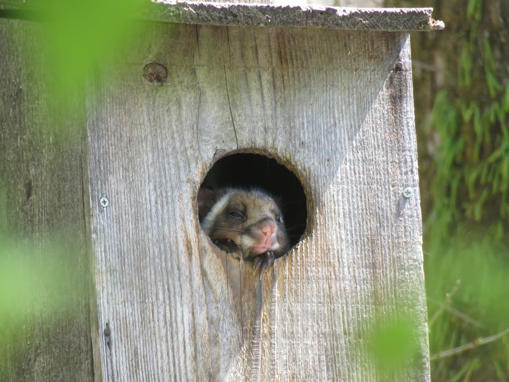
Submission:
[[[55,113],[40,35],[0,19],[0,267],[19,275],[2,280],[0,380],[91,381],[85,110]]]

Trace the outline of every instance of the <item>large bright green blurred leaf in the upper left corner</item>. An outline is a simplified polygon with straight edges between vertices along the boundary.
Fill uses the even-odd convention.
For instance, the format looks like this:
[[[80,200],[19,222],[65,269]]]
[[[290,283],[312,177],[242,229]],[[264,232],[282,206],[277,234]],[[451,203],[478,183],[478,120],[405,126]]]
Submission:
[[[44,52],[57,96],[75,94],[105,56],[128,43],[141,6],[139,0],[45,1]]]

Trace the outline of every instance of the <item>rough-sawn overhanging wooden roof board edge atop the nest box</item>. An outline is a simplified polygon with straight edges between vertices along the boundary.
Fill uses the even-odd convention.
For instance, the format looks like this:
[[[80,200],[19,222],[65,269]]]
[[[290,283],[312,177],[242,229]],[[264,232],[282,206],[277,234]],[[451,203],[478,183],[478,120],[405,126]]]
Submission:
[[[186,24],[283,26],[386,32],[444,28],[433,8],[338,8],[317,5],[274,6],[156,0],[144,18]]]

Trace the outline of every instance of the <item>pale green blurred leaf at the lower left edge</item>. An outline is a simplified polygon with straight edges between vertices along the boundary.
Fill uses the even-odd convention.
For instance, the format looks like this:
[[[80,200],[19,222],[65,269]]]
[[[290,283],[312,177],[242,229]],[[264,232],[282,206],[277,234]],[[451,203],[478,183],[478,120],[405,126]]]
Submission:
[[[13,331],[43,319],[39,312],[69,316],[87,295],[87,275],[73,271],[68,254],[76,248],[68,247],[55,237],[41,246],[0,234],[0,346]]]

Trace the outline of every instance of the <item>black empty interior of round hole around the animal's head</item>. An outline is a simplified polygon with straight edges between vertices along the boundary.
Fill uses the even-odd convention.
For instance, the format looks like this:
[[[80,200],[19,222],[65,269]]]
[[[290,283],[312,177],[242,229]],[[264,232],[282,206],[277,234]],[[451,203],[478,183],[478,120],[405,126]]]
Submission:
[[[278,198],[292,247],[306,229],[306,196],[302,184],[275,159],[252,153],[225,156],[214,163],[202,186],[254,187]]]

